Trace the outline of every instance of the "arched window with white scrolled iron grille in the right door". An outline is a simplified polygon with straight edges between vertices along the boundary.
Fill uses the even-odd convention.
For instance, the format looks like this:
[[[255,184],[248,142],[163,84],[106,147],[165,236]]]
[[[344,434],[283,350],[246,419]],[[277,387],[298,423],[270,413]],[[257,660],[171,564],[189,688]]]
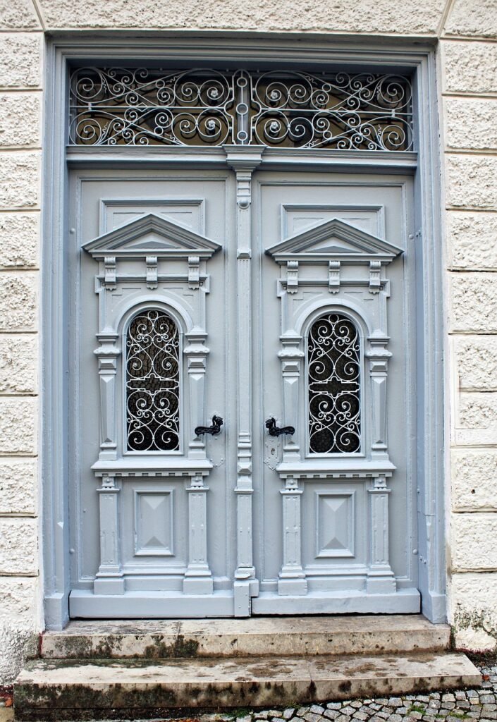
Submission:
[[[360,340],[350,318],[321,316],[307,343],[309,451],[360,451]]]

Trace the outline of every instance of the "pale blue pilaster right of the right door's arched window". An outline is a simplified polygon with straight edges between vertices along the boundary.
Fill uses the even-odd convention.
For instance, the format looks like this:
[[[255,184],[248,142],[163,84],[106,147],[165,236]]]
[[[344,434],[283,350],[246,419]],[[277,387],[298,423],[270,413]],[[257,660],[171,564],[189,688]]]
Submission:
[[[366,353],[371,378],[371,406],[373,423],[371,426],[371,458],[388,458],[386,445],[386,377],[388,362],[392,353],[386,348],[388,336],[369,336],[370,347]]]

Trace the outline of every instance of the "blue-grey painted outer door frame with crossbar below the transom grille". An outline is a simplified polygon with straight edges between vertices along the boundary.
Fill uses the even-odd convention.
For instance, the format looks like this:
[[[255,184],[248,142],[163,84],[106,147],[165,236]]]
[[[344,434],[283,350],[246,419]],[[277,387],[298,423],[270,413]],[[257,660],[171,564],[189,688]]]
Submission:
[[[415,227],[422,253],[416,269],[418,299],[418,571],[422,612],[432,622],[446,620],[445,492],[446,404],[444,400],[444,251],[441,234],[440,146],[436,58],[426,38],[364,42],[330,40],[329,35],[276,33],[163,32],[126,37],[124,32],[64,33],[48,41],[46,123],[43,138],[42,238],[42,391],[40,488],[43,505],[44,611],[48,629],[69,621],[69,495],[66,438],[69,387],[66,383],[66,303],[64,238],[68,227],[68,168],[230,168],[243,175],[243,163],[222,147],[66,147],[69,63],[141,63],[196,66],[261,63],[313,69],[358,66],[376,71],[413,72],[413,114],[418,152],[265,149],[261,170],[345,170],[414,173]],[[360,45],[359,45],[360,43]],[[401,44],[402,43],[402,44]],[[241,49],[243,48],[243,49]],[[123,58],[126,58],[124,61]],[[220,58],[220,60],[219,60]],[[235,149],[239,147],[235,147]],[[250,165],[248,146],[246,162]],[[260,147],[259,147],[260,148]],[[257,153],[256,153],[257,155]],[[228,156],[228,157],[227,157]],[[252,160],[254,162],[254,160]],[[241,186],[242,187],[242,186]]]

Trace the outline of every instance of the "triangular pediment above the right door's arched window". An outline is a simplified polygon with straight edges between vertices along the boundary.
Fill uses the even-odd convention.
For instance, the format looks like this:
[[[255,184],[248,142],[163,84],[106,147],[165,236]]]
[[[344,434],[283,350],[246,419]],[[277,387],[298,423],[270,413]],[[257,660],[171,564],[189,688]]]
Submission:
[[[280,263],[292,259],[304,263],[332,260],[360,263],[373,259],[389,263],[402,253],[402,248],[332,218],[272,245],[266,253]]]

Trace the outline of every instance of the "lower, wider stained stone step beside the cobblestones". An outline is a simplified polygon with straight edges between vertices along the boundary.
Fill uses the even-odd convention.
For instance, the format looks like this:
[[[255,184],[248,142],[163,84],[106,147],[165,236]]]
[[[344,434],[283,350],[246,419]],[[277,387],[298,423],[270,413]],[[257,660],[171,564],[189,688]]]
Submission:
[[[464,654],[48,660],[27,662],[14,687],[19,720],[170,716],[389,697],[480,684]]]

